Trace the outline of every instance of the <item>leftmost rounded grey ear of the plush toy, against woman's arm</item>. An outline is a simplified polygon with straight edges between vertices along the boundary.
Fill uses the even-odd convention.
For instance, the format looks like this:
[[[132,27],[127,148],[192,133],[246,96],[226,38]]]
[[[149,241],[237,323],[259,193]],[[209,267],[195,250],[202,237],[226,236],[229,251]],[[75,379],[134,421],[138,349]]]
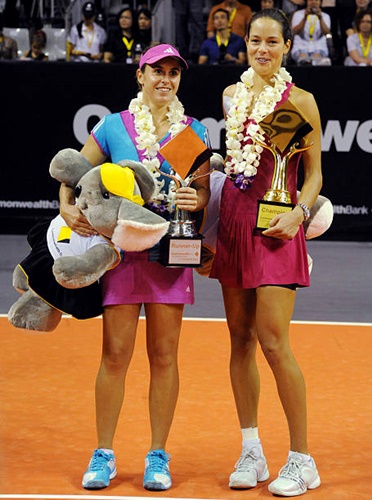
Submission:
[[[50,162],[49,173],[59,182],[68,186],[76,187],[80,179],[86,174],[92,165],[76,149],[62,149]]]

